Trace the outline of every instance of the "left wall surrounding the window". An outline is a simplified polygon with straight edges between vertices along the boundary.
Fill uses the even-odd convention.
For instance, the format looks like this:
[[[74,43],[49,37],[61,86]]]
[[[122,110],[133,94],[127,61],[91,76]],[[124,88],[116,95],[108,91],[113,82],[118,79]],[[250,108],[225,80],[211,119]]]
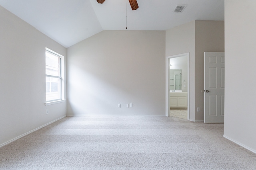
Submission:
[[[44,105],[45,47],[64,56],[66,48],[2,6],[0,16],[0,146],[3,146],[66,115],[66,102]]]

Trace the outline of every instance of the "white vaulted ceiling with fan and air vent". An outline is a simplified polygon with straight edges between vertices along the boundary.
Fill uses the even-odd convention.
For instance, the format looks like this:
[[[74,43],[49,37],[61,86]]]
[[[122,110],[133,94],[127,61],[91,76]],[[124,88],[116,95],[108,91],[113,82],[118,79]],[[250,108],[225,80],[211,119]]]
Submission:
[[[193,20],[224,20],[224,0],[0,0],[0,5],[70,47],[102,30],[167,30]],[[176,5],[188,5],[173,13]]]

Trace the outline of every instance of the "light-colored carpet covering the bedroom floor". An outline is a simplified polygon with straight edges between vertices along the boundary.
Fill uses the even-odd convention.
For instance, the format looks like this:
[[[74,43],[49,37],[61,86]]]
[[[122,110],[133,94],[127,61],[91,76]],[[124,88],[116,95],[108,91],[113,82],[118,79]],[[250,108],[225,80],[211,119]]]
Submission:
[[[256,170],[223,124],[165,116],[65,117],[0,148],[1,170]]]

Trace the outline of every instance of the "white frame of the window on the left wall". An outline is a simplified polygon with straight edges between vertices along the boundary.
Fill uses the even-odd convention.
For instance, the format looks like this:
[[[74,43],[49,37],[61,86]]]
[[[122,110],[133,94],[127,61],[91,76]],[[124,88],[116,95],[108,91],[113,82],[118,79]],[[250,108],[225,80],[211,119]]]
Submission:
[[[52,76],[52,75],[48,75],[48,74],[45,74],[46,77],[54,77],[54,78],[60,78],[60,86],[61,86],[61,98],[60,99],[56,99],[56,100],[50,100],[50,101],[46,101],[45,102],[45,106],[47,105],[51,105],[51,104],[56,104],[56,103],[61,103],[61,102],[64,102],[65,101],[65,93],[64,93],[64,56],[63,55],[60,55],[58,53],[56,53],[55,51],[52,51],[51,49],[48,49],[48,48],[45,48],[45,51],[48,51],[58,57],[60,57],[60,76]],[[46,64],[45,64],[46,66]],[[46,94],[46,88],[45,88],[45,94]],[[46,95],[45,95],[46,97]],[[46,98],[45,98],[46,100]]]

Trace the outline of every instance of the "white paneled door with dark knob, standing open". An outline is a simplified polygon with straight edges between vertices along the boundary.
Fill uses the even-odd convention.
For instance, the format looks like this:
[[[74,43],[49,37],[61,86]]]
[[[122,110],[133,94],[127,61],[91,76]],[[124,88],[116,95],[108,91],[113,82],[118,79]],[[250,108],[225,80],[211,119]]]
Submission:
[[[204,52],[204,123],[224,123],[225,57]]]

